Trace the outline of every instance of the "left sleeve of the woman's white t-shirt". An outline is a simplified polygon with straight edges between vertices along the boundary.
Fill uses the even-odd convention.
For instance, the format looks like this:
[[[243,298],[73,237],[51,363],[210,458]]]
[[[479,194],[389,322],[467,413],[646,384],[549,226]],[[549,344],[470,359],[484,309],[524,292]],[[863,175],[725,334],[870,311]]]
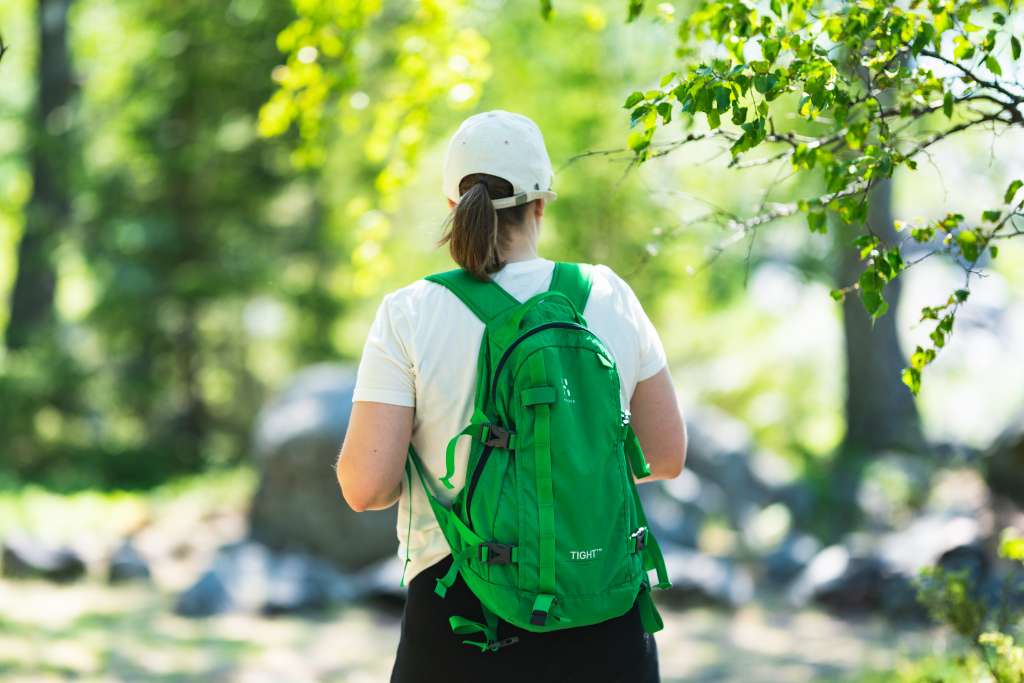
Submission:
[[[408,311],[398,305],[394,293],[386,295],[367,335],[352,400],[416,405],[416,373],[409,352],[411,334]]]

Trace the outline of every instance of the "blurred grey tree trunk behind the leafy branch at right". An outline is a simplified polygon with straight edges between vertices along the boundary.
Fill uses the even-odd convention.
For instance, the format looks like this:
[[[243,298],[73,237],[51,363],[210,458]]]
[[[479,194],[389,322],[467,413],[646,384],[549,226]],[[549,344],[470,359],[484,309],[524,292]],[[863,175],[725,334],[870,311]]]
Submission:
[[[891,180],[879,182],[871,190],[867,224],[884,243],[894,242]],[[840,287],[856,282],[863,269],[851,246],[856,227],[840,228]],[[889,312],[873,324],[859,297],[849,296],[843,303],[847,377],[844,451],[915,450],[924,442],[913,395],[900,379],[906,367],[896,334],[900,289],[899,280],[886,287]]]

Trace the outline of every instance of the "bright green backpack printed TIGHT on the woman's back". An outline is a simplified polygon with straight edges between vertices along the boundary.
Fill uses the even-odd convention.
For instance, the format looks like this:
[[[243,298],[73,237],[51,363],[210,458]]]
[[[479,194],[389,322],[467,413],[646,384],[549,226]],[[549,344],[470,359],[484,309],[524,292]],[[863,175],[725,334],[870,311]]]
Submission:
[[[551,288],[520,303],[495,282],[463,269],[427,276],[458,296],[486,326],[470,424],[447,444],[472,439],[466,485],[451,508],[432,493],[410,445],[453,563],[437,581],[444,597],[462,572],[480,600],[483,623],[452,616],[464,640],[497,651],[498,620],[532,632],[596,624],[626,613],[639,594],[644,629],[662,629],[650,598],[670,586],[633,477],[650,469],[620,403],[620,378],[582,311],[590,266],[556,263]],[[412,463],[412,468],[410,467]]]

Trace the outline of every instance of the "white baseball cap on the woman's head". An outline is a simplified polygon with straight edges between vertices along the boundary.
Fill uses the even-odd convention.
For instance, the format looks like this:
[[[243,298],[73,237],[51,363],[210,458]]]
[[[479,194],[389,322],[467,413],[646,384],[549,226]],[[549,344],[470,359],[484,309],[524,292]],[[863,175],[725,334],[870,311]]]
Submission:
[[[494,110],[474,114],[459,126],[444,154],[444,196],[459,203],[459,183],[470,173],[488,173],[512,183],[512,197],[492,200],[495,209],[551,202],[555,172],[537,124],[521,114]]]

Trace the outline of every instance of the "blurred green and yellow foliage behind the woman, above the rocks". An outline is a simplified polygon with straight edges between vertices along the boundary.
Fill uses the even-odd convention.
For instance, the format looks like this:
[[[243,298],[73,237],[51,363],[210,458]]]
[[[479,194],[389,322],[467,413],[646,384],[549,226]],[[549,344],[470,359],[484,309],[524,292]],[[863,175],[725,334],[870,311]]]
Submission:
[[[5,302],[34,140],[55,126],[75,147],[56,324],[0,351],[0,469],[18,480],[152,485],[244,459],[268,391],[305,364],[356,358],[381,293],[449,267],[434,249],[443,144],[487,109],[545,131],[559,199],[542,253],[630,281],[686,358],[687,399],[741,417],[798,465],[841,439],[831,245],[766,232],[703,267],[730,233],[691,206],[739,216],[761,191],[711,172],[707,148],[640,167],[629,148],[603,154],[635,84],[686,56],[688,6],[556,2],[545,22],[536,3],[501,0],[75,0],[77,96],[46,122],[33,116],[35,8],[0,5]],[[752,166],[743,182],[796,201],[818,180]],[[0,329],[8,316],[0,306]]]

